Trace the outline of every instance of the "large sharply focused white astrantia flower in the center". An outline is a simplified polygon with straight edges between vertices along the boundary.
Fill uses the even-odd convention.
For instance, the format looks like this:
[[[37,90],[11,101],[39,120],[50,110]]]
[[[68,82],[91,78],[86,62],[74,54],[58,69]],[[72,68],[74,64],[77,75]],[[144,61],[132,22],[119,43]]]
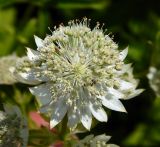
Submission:
[[[105,35],[97,25],[89,28],[88,20],[60,25],[44,40],[35,36],[37,51],[27,48],[27,56],[17,64],[14,75],[29,88],[41,112],[49,112],[51,128],[68,116],[68,127],[79,122],[90,129],[92,115],[107,121],[103,106],[126,112],[119,99],[132,98],[138,81],[130,64],[123,60],[128,49]]]

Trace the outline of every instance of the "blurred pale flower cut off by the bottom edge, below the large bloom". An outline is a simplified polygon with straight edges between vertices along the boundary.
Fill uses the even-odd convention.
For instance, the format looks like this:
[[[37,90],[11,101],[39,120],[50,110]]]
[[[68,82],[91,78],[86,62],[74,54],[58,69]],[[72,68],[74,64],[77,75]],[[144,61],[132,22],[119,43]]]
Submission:
[[[73,147],[119,147],[115,144],[108,144],[107,142],[110,138],[111,136],[106,136],[105,134],[96,137],[94,137],[94,135],[89,135],[83,140],[78,141]]]

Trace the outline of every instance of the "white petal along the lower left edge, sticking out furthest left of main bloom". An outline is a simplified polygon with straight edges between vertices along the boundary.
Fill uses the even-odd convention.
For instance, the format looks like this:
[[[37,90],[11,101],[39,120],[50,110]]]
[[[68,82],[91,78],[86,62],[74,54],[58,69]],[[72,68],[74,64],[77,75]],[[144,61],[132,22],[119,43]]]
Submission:
[[[10,71],[12,72],[13,76],[20,82],[30,85],[37,85],[40,84],[41,81],[35,78],[34,72],[17,72],[15,68],[10,68]]]

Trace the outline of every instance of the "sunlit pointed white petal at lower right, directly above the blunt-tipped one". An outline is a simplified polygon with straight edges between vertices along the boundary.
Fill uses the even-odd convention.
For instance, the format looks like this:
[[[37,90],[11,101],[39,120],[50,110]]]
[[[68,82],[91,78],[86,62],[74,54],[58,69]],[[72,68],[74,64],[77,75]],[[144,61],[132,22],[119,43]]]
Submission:
[[[112,95],[108,95],[106,97],[102,96],[102,104],[111,110],[126,112],[126,109],[121,101],[114,98]]]

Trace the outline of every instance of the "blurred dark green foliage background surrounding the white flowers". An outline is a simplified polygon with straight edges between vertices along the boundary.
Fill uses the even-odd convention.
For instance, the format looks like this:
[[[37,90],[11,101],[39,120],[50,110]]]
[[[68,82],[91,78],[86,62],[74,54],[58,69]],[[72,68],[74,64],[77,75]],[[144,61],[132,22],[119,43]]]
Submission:
[[[92,28],[97,21],[104,23],[120,49],[129,46],[126,63],[133,63],[139,87],[145,89],[140,96],[123,101],[128,114],[112,111],[109,121],[98,123],[91,132],[111,135],[110,142],[122,147],[160,146],[160,98],[146,77],[150,66],[160,67],[159,0],[0,0],[0,57],[23,56],[26,46],[36,48],[34,34],[44,38],[54,26],[83,17],[91,19]],[[0,72],[3,68],[2,64]],[[36,109],[27,85],[1,84],[0,106],[6,102],[19,105],[25,115]],[[32,123],[30,126],[34,127]],[[30,131],[29,143],[37,138],[41,138],[42,146],[50,142],[50,137],[36,133]]]

